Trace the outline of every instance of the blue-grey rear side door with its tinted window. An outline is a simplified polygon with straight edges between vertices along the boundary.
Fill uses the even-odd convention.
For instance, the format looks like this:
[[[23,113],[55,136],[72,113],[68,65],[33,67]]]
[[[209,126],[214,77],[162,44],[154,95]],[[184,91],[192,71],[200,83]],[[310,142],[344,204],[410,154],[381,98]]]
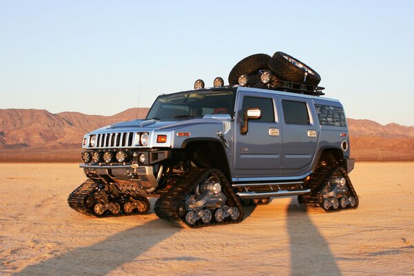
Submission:
[[[311,170],[319,137],[319,125],[306,97],[280,96],[282,108],[282,175],[302,175]]]

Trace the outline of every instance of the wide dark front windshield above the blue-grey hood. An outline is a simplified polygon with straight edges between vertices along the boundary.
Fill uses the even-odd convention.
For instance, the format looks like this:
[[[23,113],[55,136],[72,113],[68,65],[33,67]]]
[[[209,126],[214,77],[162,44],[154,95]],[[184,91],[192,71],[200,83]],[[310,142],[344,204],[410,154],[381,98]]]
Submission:
[[[177,119],[203,117],[206,114],[233,112],[233,91],[190,91],[157,98],[146,119]]]

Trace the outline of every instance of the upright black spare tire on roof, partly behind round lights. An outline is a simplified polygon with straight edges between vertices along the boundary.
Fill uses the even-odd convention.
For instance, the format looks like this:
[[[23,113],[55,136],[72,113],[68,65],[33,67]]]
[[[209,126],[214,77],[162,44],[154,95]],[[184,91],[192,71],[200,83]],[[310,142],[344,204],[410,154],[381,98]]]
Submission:
[[[228,74],[230,86],[237,84],[241,75],[251,75],[258,70],[268,70],[271,57],[266,54],[256,54],[248,56],[233,67]]]

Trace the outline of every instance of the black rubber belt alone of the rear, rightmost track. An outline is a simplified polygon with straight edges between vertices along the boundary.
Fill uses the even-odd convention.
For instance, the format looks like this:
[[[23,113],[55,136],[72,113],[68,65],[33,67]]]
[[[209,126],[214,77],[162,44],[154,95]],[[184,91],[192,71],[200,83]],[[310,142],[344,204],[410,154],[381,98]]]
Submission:
[[[311,189],[311,193],[299,195],[297,197],[297,201],[299,201],[299,204],[302,204],[306,207],[321,208],[320,204],[322,204],[322,201],[324,199],[321,190],[322,188],[324,188],[324,184],[326,184],[328,178],[331,177],[335,170],[337,170],[337,168],[329,168],[327,166],[318,168],[312,175],[310,181],[308,181],[308,187]],[[355,192],[355,189],[353,188],[351,179],[349,179],[348,177],[348,172],[346,172],[346,170],[342,167],[339,167],[339,171],[342,173],[342,176],[346,179],[346,187],[348,188],[349,192],[353,197],[355,197],[355,206],[352,208],[356,209],[359,205],[359,199],[357,193]],[[331,211],[335,210],[329,210],[329,212]]]

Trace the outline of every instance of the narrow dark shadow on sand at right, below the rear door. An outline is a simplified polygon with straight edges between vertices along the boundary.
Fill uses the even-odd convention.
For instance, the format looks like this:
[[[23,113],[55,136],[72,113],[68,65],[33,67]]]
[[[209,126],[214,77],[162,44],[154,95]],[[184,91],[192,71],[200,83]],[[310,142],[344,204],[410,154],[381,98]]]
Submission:
[[[296,197],[288,206],[290,275],[342,275],[328,242]]]

